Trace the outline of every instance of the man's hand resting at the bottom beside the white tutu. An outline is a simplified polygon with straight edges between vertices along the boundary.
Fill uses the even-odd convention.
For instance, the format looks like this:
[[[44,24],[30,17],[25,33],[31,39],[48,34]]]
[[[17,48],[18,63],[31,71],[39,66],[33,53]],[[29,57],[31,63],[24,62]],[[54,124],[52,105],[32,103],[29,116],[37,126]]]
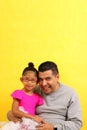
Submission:
[[[54,126],[47,122],[36,126],[37,130],[54,130]]]

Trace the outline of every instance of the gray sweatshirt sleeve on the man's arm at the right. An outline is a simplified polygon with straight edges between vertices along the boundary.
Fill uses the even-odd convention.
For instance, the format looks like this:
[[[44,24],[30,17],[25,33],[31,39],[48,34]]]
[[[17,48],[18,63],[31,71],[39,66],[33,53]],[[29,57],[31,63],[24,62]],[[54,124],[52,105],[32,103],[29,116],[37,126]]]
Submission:
[[[78,96],[74,93],[67,109],[66,121],[56,125],[57,130],[80,130],[82,127],[82,111]]]

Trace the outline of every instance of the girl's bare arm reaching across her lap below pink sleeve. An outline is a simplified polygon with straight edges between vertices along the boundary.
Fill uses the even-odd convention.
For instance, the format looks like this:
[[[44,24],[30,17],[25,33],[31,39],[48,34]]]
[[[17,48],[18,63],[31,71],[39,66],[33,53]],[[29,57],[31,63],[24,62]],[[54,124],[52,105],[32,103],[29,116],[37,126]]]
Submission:
[[[19,101],[17,99],[13,99],[12,112],[13,112],[13,115],[15,117],[18,117],[18,118],[26,117],[26,118],[29,118],[29,119],[33,119],[37,122],[44,122],[44,119],[42,119],[38,116],[32,116],[30,114],[27,114],[27,113],[19,110]]]

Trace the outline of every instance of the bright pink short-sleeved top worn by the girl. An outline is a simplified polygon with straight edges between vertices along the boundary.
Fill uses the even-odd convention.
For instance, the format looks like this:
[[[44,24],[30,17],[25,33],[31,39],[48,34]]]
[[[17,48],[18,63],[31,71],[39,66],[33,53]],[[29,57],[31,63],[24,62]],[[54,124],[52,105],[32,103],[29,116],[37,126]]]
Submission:
[[[43,104],[43,98],[34,93],[33,95],[26,94],[23,90],[15,90],[11,96],[19,100],[19,107],[27,111],[31,115],[35,115],[35,108]]]

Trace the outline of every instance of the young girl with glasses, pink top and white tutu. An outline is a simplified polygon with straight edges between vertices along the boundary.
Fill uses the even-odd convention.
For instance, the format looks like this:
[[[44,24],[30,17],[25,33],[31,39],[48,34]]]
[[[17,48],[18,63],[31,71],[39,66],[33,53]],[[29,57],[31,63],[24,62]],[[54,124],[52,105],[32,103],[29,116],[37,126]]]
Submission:
[[[15,90],[11,96],[13,98],[12,112],[14,116],[22,118],[22,122],[10,121],[2,127],[2,130],[36,130],[35,126],[44,120],[35,115],[35,108],[43,104],[43,98],[34,93],[38,82],[38,72],[33,63],[23,70],[20,78],[23,83],[21,90]]]

